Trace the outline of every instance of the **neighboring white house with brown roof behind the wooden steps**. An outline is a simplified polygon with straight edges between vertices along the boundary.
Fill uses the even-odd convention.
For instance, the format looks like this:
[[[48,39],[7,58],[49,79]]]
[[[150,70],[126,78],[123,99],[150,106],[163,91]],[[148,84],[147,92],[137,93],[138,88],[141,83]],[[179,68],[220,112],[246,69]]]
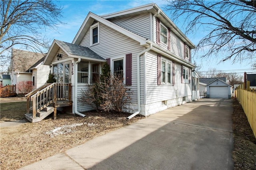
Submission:
[[[46,83],[50,67],[42,65],[43,60],[41,53],[12,49],[10,75],[12,85],[16,85],[16,93],[21,93],[18,89],[22,81],[32,81],[33,90]]]

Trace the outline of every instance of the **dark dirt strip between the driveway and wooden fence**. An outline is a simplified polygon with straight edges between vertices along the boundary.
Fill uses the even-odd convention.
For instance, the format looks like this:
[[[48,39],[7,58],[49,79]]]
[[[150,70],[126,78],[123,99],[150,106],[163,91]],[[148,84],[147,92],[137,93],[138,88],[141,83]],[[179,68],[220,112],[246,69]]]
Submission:
[[[256,138],[237,99],[233,99],[233,107],[234,169],[256,170]]]

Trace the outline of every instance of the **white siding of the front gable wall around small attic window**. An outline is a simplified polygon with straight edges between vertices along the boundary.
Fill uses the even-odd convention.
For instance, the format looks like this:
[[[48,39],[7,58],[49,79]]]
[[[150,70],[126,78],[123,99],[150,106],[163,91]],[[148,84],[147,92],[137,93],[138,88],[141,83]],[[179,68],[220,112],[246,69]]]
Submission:
[[[90,32],[88,31],[81,43],[84,47],[90,47]],[[131,103],[137,103],[137,54],[144,50],[144,47],[140,46],[140,43],[132,40],[131,38],[109,28],[108,26],[100,23],[100,43],[92,45],[90,47],[92,51],[107,58],[122,58],[126,54],[132,53],[132,85],[128,88],[131,93]],[[143,64],[143,61],[142,61]],[[144,66],[140,66],[143,71]],[[141,74],[141,83],[143,85],[143,74]],[[141,85],[141,93],[143,95],[144,87]],[[141,103],[143,103],[143,97],[141,97]]]

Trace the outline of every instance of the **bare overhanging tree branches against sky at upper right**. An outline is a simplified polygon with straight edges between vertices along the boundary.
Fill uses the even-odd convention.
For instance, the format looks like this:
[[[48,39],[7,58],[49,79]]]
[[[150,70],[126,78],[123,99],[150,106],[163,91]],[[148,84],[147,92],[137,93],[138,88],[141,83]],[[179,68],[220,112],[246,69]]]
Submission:
[[[222,54],[222,61],[252,59],[256,54],[255,0],[167,0],[174,22],[182,20],[186,33],[199,29],[207,33],[196,51],[206,50],[201,57]]]

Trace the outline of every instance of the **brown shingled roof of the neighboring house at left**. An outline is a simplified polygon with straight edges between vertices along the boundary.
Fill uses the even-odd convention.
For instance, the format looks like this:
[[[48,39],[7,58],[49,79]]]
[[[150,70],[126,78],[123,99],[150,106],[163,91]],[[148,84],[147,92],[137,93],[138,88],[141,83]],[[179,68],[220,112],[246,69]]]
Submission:
[[[15,72],[29,72],[30,67],[43,57],[44,54],[42,53],[12,49],[10,70]]]

